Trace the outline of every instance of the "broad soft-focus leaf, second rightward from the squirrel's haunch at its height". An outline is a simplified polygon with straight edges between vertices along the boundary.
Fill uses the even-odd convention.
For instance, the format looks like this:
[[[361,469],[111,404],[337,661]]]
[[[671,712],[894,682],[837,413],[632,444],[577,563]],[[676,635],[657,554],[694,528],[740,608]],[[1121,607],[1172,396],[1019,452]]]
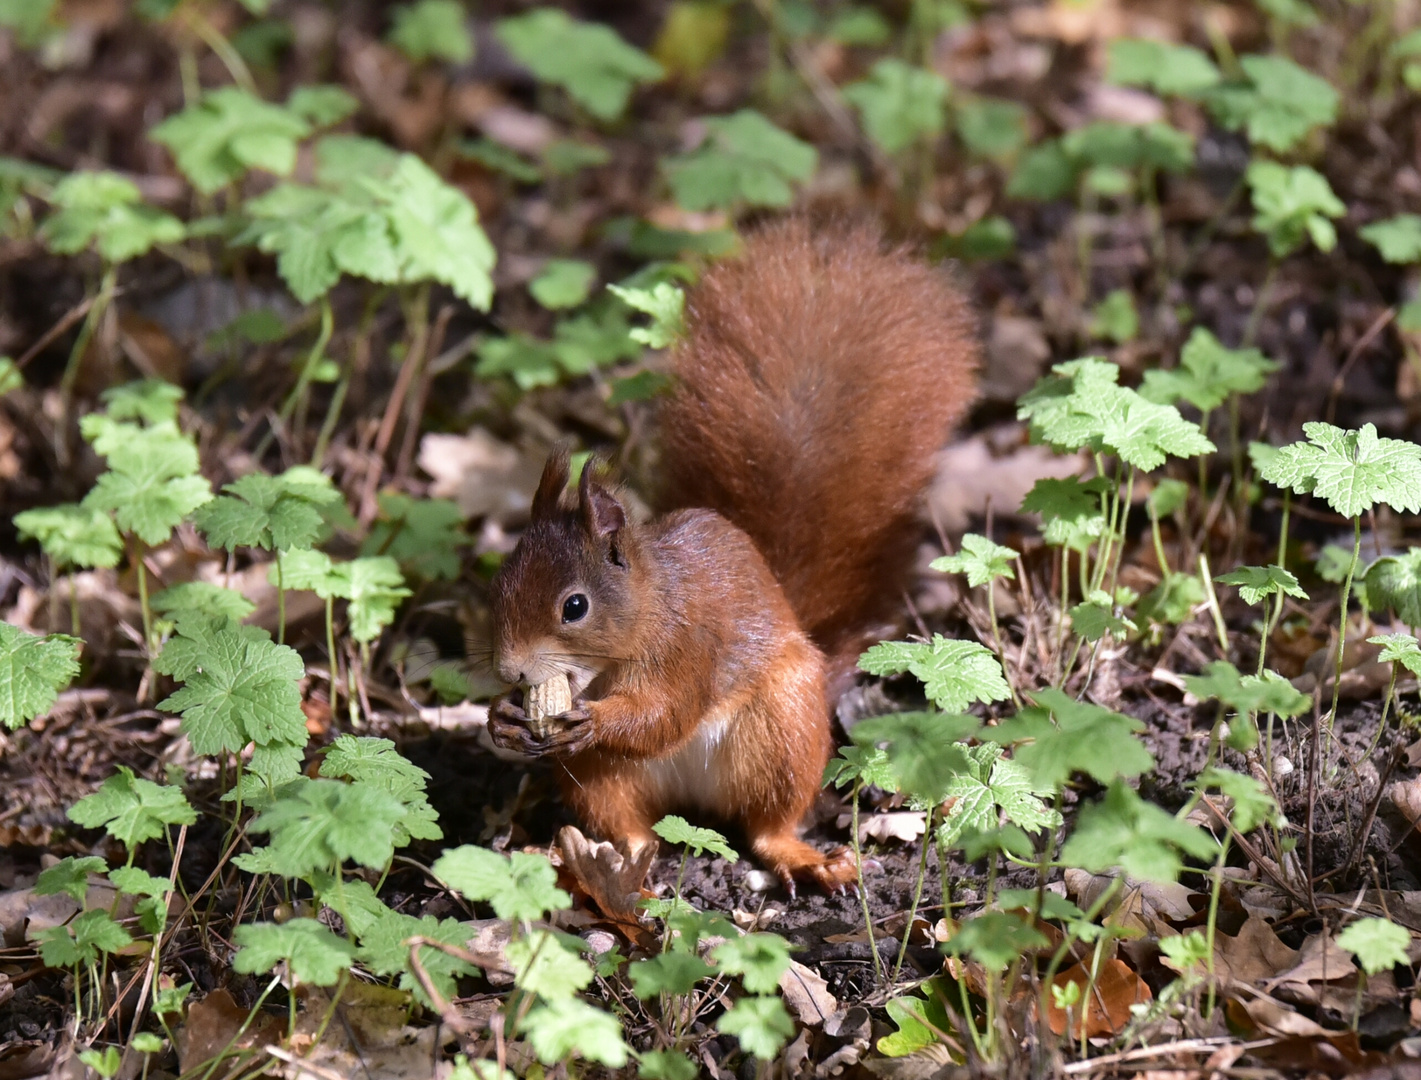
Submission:
[[[1140,776],[1154,757],[1135,738],[1144,725],[1133,716],[1074,701],[1057,689],[1033,691],[1039,708],[1022,709],[980,738],[1017,746],[1012,757],[1032,773],[1036,790],[1061,787],[1071,773],[1086,773],[1100,783],[1120,776]],[[1052,718],[1056,723],[1052,723]]]

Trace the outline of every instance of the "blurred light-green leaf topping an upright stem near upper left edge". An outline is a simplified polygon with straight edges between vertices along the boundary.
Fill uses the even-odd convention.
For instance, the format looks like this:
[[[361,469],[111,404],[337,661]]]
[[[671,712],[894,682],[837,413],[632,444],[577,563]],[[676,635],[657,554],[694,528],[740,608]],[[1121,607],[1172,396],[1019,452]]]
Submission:
[[[54,186],[50,202],[55,209],[40,237],[58,254],[92,246],[105,261],[126,263],[186,236],[182,222],[144,205],[138,186],[118,173],[71,172]]]

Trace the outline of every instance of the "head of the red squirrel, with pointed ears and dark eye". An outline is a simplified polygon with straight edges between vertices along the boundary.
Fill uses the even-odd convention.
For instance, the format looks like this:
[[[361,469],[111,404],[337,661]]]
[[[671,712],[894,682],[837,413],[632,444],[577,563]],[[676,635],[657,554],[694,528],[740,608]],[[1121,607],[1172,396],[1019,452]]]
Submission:
[[[493,661],[504,682],[566,674],[573,693],[625,655],[635,618],[635,536],[588,460],[576,502],[567,450],[543,468],[533,516],[492,584]]]

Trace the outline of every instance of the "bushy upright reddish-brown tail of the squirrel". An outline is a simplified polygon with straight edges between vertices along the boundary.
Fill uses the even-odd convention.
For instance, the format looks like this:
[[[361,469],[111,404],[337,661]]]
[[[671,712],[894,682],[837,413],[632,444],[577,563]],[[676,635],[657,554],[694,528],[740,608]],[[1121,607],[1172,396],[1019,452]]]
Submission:
[[[902,608],[921,500],[978,362],[946,274],[875,229],[762,229],[686,297],[662,503],[749,533],[843,675]]]

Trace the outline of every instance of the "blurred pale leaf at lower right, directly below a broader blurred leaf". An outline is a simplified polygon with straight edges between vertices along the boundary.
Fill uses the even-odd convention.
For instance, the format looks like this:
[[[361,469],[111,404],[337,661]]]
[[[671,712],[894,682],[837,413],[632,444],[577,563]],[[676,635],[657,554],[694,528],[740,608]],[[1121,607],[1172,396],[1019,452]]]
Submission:
[[[1081,809],[1061,861],[1093,874],[1120,867],[1137,881],[1172,882],[1184,868],[1181,853],[1212,860],[1218,843],[1115,780],[1101,801]]]

